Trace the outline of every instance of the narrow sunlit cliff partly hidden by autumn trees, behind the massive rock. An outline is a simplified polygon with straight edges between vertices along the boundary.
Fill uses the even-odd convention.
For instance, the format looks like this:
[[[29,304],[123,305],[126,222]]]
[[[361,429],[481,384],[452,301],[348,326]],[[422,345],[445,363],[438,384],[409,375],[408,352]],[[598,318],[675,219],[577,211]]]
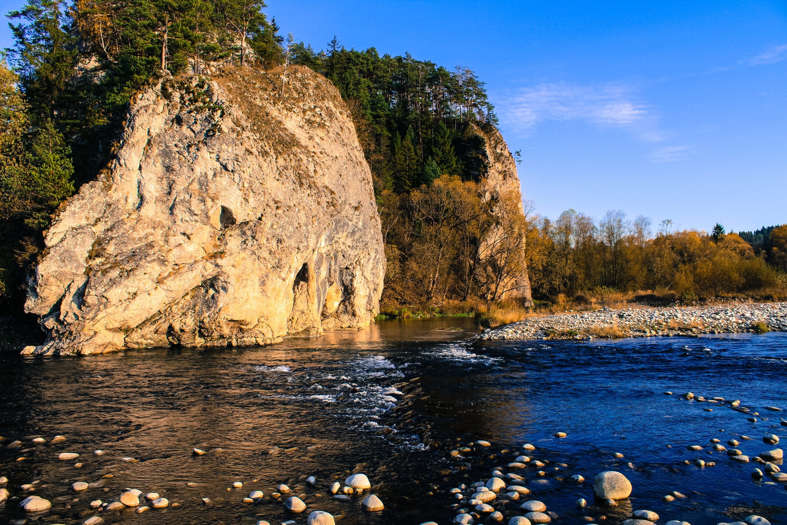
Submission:
[[[516,171],[516,162],[508,150],[503,135],[496,129],[484,131],[476,128],[475,132],[481,135],[485,141],[486,173],[482,175],[480,180],[484,198],[497,201],[507,199],[513,206],[500,205],[497,207],[496,213],[516,213],[523,217],[522,192],[519,175]],[[522,238],[522,246],[525,246],[524,238]],[[507,280],[509,282],[504,283],[504,289],[510,291],[504,294],[504,297],[520,298],[524,305],[532,306],[533,297],[530,290],[530,277],[527,274],[527,264],[523,263],[519,272],[515,272]]]

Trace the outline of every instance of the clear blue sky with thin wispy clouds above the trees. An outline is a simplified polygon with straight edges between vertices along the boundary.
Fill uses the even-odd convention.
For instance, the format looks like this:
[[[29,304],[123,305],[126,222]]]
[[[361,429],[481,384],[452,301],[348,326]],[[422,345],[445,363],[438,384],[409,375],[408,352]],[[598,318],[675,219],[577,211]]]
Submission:
[[[268,5],[316,49],[337,35],[475,70],[538,213],[623,209],[705,230],[787,222],[787,2]]]

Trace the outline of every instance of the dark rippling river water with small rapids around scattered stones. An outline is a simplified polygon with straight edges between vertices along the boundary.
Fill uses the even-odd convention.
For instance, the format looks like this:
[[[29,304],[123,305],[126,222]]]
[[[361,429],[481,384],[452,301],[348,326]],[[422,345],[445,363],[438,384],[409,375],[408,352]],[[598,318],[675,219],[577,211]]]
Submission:
[[[763,434],[787,438],[779,418],[787,412],[763,409],[787,409],[787,334],[468,340],[475,332],[471,320],[389,321],[264,348],[0,357],[0,475],[9,478],[12,496],[0,508],[0,523],[82,523],[98,514],[106,523],[302,524],[319,509],[348,525],[430,519],[442,525],[457,512],[452,487],[488,479],[527,442],[536,447],[530,457],[549,463],[542,476],[538,468],[513,470],[531,490],[519,503],[545,502],[559,516],[553,523],[582,523],[584,516],[619,523],[632,508],[657,512],[660,523],[711,525],[749,514],[787,521],[784,483],[752,479],[752,468],[762,465],[708,453],[711,438],[724,445],[737,438],[749,457],[774,448]],[[750,422],[726,406],[664,390],[740,399],[759,416]],[[554,438],[557,431],[567,437]],[[50,444],[56,434],[66,441]],[[46,443],[34,446],[37,436]],[[478,439],[492,446],[450,457]],[[7,448],[13,440],[22,445]],[[704,449],[687,450],[691,445]],[[194,455],[195,447],[207,453]],[[96,449],[105,453],[96,456]],[[80,456],[57,460],[62,452]],[[683,464],[696,458],[716,465]],[[630,479],[630,505],[578,508],[579,497],[593,501],[593,476],[604,470]],[[362,497],[331,498],[327,487],[356,472],[369,476],[384,511],[364,512]],[[573,474],[586,481],[572,482]],[[309,475],[316,486],[306,483]],[[76,481],[91,486],[75,492]],[[229,488],[236,481],[243,487]],[[301,495],[307,512],[289,514],[286,496],[270,496],[279,483]],[[24,490],[23,484],[33,485]],[[154,491],[178,505],[142,514],[91,508],[91,501],[113,501],[125,488]],[[257,489],[264,499],[243,504]],[[672,490],[686,497],[663,501]],[[52,508],[20,511],[13,497],[30,494]],[[497,501],[504,523],[523,514],[519,503]]]

